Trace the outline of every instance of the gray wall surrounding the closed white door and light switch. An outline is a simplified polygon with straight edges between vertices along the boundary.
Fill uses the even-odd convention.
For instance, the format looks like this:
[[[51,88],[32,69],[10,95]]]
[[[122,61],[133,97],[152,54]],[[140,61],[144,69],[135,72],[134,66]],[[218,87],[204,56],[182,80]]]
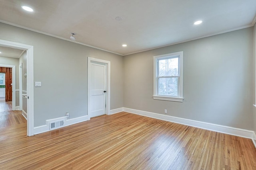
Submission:
[[[111,108],[123,107],[123,57],[0,23],[0,38],[34,46],[34,126],[87,115],[87,57],[111,62]],[[67,33],[67,38],[69,37]],[[77,35],[79,36],[79,35]]]

